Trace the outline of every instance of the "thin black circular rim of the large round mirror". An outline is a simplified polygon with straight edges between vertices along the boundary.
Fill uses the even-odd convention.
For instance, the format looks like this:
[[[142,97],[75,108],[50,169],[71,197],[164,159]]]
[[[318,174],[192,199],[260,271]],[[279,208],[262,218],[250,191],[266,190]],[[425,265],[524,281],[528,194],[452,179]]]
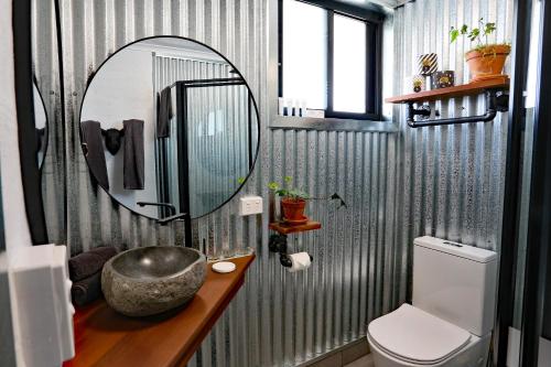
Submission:
[[[139,40],[136,40],[133,42],[130,42],[126,45],[123,45],[122,47],[118,48],[115,53],[110,54],[109,57],[107,57],[99,66],[96,71],[94,71],[94,73],[88,77],[87,79],[87,83],[86,83],[86,90],[83,95],[83,99],[82,99],[82,102],[80,102],[80,110],[79,110],[79,115],[78,115],[78,120],[80,120],[80,116],[82,116],[82,112],[83,112],[83,106],[84,106],[84,100],[86,99],[86,95],[88,93],[88,88],[90,87],[91,85],[91,82],[94,80],[94,77],[96,77],[99,73],[99,71],[101,69],[101,67],[107,64],[111,57],[114,57],[115,55],[117,55],[119,52],[126,50],[127,47],[136,44],[136,43],[139,43],[139,42],[143,42],[143,41],[147,41],[147,40],[152,40],[152,39],[180,39],[180,40],[184,40],[184,41],[190,41],[190,42],[194,42],[194,43],[197,43],[202,46],[204,46],[205,48],[212,51],[213,53],[217,54],[218,56],[220,56],[226,63],[228,63],[228,65],[235,71],[234,74],[236,74],[236,77],[239,77],[241,80],[242,80],[242,84],[247,87],[248,89],[248,95],[249,95],[249,99],[250,101],[252,101],[252,106],[255,108],[255,112],[257,115],[257,148],[253,152],[253,156],[252,156],[252,160],[251,160],[251,163],[250,163],[250,166],[249,166],[249,172],[247,174],[247,176],[245,177],[245,180],[242,182],[240,182],[239,186],[236,188],[235,193],[233,195],[230,195],[224,203],[222,203],[218,207],[216,208],[213,208],[213,211],[208,212],[208,213],[205,213],[203,214],[202,216],[199,217],[196,217],[196,218],[191,218],[188,217],[188,220],[185,220],[185,216],[184,216],[184,222],[186,222],[186,234],[187,231],[191,234],[191,219],[198,219],[198,218],[202,218],[202,217],[205,217],[216,211],[218,211],[220,207],[223,207],[224,205],[226,205],[227,203],[229,203],[239,192],[240,190],[245,186],[245,184],[247,183],[247,181],[249,180],[250,175],[252,174],[252,171],[253,171],[253,168],[255,168],[255,164],[258,160],[258,155],[259,155],[259,151],[260,151],[260,141],[261,141],[261,132],[260,132],[260,127],[261,127],[261,121],[260,121],[260,111],[258,109],[258,105],[257,105],[257,101],[255,99],[255,96],[252,94],[252,89],[250,88],[249,84],[247,83],[246,78],[242,76],[242,74],[239,72],[239,69],[226,57],[224,56],[220,52],[218,52],[217,50],[210,47],[209,45],[207,44],[204,44],[199,41],[196,41],[194,39],[190,39],[190,37],[184,37],[184,36],[180,36],[180,35],[153,35],[153,36],[148,36],[148,37],[142,37],[142,39],[139,39]],[[179,109],[180,110],[180,109]],[[79,137],[80,137],[80,147],[83,148],[83,136],[79,131]],[[84,152],[84,151],[83,151]],[[93,173],[90,172],[90,175],[94,177]],[[165,220],[166,218],[163,220],[163,219],[160,219],[160,218],[153,218],[153,217],[149,217],[144,214],[141,214],[141,213],[138,213],[136,211],[133,211],[132,208],[128,207],[127,205],[120,203],[115,196],[112,196],[108,190],[106,190],[101,184],[97,183],[98,186],[100,186],[116,203],[118,203],[118,205],[121,205],[123,207],[126,207],[128,211],[130,211],[131,213],[133,214],[137,214],[137,215],[140,215],[140,216],[143,216],[143,217],[147,217],[149,219],[154,219],[154,220],[158,220],[160,222],[160,224],[162,225],[165,225]],[[184,214],[185,215],[185,214]],[[183,215],[180,214],[180,215],[175,215],[174,216],[174,219],[177,219],[180,217],[182,217]],[[188,214],[187,214],[188,216]],[[190,227],[190,228],[187,228]],[[187,237],[187,236],[186,236]],[[191,237],[190,237],[191,238]],[[186,241],[186,246],[191,246],[191,244],[188,245],[187,241]]]

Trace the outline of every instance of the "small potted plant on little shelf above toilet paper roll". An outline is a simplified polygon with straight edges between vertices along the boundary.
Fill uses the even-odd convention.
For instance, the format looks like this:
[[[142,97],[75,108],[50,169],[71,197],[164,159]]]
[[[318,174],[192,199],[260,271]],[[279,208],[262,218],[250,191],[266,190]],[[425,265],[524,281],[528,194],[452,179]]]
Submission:
[[[304,215],[304,209],[306,207],[307,201],[323,199],[323,201],[339,201],[338,207],[346,207],[346,203],[338,194],[333,194],[328,197],[312,197],[306,192],[301,188],[292,187],[293,177],[285,176],[283,179],[283,185],[277,182],[271,182],[268,184],[270,188],[277,196],[281,197],[281,214],[283,222],[289,224],[300,225],[309,220]]]

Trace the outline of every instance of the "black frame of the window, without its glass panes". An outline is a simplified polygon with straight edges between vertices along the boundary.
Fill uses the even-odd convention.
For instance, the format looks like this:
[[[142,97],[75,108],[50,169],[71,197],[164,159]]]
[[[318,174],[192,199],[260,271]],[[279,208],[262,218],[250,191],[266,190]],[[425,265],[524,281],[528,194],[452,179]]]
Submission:
[[[381,119],[382,110],[382,22],[385,14],[374,9],[348,6],[342,2],[323,0],[294,0],[327,11],[327,100],[325,117],[354,120]],[[335,111],[333,109],[333,52],[334,17],[343,15],[359,20],[366,24],[366,111],[364,114]],[[283,0],[278,4],[278,96],[283,97]]]

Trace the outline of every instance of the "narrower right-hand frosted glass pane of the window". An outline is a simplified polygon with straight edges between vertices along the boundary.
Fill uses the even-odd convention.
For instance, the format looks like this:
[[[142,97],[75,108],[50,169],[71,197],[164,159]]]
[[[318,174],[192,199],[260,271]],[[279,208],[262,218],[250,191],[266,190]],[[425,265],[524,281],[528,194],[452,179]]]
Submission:
[[[335,14],[333,109],[366,111],[366,23]]]

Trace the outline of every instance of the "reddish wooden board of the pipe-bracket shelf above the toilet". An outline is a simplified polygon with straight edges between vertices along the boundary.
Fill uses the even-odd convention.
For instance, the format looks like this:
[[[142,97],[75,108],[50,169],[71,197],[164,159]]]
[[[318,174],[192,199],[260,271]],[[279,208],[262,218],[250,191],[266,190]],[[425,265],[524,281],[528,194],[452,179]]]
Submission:
[[[480,80],[464,85],[457,85],[450,88],[412,93],[409,95],[386,98],[385,101],[387,104],[432,101],[444,98],[478,95],[486,89],[509,89],[509,77],[507,75],[504,75],[501,78],[494,78],[488,80]]]

